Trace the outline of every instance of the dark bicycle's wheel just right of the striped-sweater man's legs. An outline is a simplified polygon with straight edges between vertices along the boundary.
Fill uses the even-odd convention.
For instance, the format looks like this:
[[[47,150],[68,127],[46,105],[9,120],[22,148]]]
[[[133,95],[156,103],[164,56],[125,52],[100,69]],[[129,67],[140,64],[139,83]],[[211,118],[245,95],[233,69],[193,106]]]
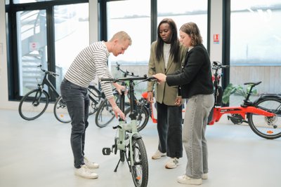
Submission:
[[[104,99],[103,102],[98,107],[98,111],[96,112],[96,125],[98,127],[105,127],[115,118],[115,112],[112,110],[112,106],[107,99]]]

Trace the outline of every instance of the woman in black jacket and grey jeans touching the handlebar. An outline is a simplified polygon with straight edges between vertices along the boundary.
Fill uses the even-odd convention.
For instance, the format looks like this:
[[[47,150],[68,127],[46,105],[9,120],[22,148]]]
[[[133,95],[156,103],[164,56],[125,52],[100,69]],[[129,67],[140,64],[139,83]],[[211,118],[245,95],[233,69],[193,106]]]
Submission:
[[[214,106],[213,83],[211,81],[211,62],[197,25],[184,24],[180,29],[180,41],[188,48],[185,64],[174,75],[156,74],[160,82],[170,86],[181,85],[181,95],[188,98],[183,124],[183,146],[188,156],[188,164],[179,183],[200,185],[207,179],[207,140],[205,130],[207,118]]]

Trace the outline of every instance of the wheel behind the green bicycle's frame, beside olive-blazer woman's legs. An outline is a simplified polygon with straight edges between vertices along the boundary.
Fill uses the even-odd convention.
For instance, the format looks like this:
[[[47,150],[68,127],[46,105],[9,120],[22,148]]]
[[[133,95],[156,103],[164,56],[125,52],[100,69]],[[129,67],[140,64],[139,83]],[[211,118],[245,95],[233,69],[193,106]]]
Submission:
[[[129,114],[131,113],[130,107],[128,109],[126,109],[125,111],[125,116],[129,116]],[[136,126],[137,126],[137,130],[138,132],[140,132],[141,130],[143,130],[143,128],[148,124],[148,119],[149,119],[149,111],[148,108],[146,108],[146,106],[144,105],[137,105],[136,107]]]

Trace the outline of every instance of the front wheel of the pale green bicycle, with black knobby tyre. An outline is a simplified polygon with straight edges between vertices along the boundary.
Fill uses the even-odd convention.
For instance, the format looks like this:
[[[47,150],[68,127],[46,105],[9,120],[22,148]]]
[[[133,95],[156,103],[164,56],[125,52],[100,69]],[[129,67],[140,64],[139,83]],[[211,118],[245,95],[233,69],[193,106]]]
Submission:
[[[128,160],[133,183],[136,187],[146,187],[148,186],[148,155],[146,154],[143,139],[132,139],[132,151],[133,162],[130,158],[130,151],[128,151]]]

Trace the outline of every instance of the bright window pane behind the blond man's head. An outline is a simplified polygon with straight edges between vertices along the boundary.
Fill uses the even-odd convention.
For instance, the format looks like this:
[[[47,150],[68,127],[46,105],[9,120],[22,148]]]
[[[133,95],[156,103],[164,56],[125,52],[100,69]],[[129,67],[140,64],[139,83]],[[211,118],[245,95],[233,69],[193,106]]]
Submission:
[[[123,10],[123,11],[120,11]],[[148,64],[150,56],[150,0],[107,2],[107,37],[119,31],[127,32],[132,45],[124,55],[110,55],[110,62]]]

